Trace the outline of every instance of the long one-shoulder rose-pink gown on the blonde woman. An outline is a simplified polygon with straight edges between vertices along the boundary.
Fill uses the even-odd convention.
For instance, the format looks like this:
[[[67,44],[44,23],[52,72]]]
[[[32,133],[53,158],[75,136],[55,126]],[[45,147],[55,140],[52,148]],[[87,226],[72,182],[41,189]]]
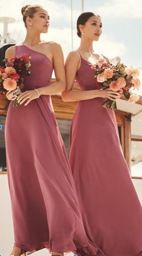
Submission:
[[[48,86],[53,70],[48,57],[17,45],[15,56],[24,53],[31,55],[31,75],[25,77],[22,91]],[[27,254],[47,248],[105,256],[85,235],[72,172],[49,95],[16,108],[11,101],[5,144],[14,246]]]

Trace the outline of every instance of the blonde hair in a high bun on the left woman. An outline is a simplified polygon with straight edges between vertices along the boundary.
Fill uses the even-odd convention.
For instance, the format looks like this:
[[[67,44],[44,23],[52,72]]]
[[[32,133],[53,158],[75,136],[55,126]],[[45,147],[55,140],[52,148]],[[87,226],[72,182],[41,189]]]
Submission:
[[[34,5],[27,4],[22,7],[21,13],[23,15],[23,22],[25,23],[25,27],[27,27],[26,26],[26,17],[33,18],[34,14],[37,12],[38,8],[43,8],[43,7],[39,4],[34,4]]]

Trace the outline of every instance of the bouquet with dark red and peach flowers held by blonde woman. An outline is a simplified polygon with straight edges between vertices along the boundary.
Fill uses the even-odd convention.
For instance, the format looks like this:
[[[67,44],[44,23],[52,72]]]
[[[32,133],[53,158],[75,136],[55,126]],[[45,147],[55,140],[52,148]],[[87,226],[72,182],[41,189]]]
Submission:
[[[23,88],[23,75],[30,74],[31,56],[23,54],[21,57],[14,57],[10,60],[4,59],[6,68],[0,67],[0,94],[13,91],[17,88],[19,94]],[[12,92],[11,92],[12,94]],[[19,106],[17,98],[14,100],[14,107]]]

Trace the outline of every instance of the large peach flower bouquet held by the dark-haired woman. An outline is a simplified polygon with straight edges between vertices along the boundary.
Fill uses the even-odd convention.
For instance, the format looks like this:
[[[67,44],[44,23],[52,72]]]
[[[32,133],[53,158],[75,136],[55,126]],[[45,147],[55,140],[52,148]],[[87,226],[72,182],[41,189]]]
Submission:
[[[120,62],[113,65],[103,58],[99,59],[92,68],[94,69],[94,77],[97,78],[97,82],[101,83],[102,89],[110,88],[114,92],[119,92],[132,103],[138,101],[140,96],[132,93],[135,88],[140,89],[140,71],[137,68],[130,66],[127,69]],[[108,99],[102,104],[102,107],[117,109],[116,101]]]

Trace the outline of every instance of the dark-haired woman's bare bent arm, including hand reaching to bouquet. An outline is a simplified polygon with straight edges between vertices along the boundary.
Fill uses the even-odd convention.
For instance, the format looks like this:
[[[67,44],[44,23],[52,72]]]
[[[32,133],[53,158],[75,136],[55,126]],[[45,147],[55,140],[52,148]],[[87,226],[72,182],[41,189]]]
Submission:
[[[66,70],[66,91],[62,92],[63,101],[81,101],[90,100],[96,97],[118,98],[120,95],[118,92],[113,92],[110,89],[103,90],[90,90],[90,91],[77,91],[73,89],[73,83],[75,80],[76,72],[81,65],[81,56],[77,51],[72,51],[66,60],[65,70]],[[113,97],[113,98],[111,98]]]

